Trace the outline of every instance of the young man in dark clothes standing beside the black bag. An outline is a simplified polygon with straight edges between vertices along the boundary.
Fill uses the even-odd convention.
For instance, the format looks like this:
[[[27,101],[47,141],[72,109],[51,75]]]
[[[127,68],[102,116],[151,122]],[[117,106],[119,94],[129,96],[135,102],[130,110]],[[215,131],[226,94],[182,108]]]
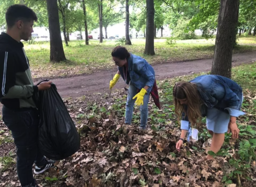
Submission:
[[[12,132],[17,148],[17,174],[22,187],[38,187],[32,174],[53,167],[38,147],[39,114],[33,97],[38,90],[51,87],[51,82],[34,86],[29,60],[21,40],[29,40],[37,16],[25,5],[12,5],[6,11],[7,32],[0,35],[0,101],[2,119]],[[7,185],[8,186],[8,185]]]

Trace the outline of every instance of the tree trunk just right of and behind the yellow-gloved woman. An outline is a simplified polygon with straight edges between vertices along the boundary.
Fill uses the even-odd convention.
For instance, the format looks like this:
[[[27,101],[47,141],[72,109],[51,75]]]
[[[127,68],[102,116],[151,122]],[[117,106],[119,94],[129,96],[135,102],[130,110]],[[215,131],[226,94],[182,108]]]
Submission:
[[[154,0],[147,0],[146,45],[144,54],[155,55],[154,51]]]

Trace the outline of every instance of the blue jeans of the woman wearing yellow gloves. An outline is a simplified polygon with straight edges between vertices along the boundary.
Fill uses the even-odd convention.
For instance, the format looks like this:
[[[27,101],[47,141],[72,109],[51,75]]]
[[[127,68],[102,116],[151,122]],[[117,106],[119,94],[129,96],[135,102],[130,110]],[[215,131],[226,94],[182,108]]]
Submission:
[[[133,106],[136,99],[132,99],[137,94],[137,88],[130,83],[129,85],[129,93],[127,96],[126,102],[126,116],[125,116],[125,123],[130,124],[132,122],[132,115],[133,115]],[[148,101],[149,101],[149,94],[146,93],[143,98],[143,105],[140,106],[140,127],[145,129],[147,126],[148,121]]]

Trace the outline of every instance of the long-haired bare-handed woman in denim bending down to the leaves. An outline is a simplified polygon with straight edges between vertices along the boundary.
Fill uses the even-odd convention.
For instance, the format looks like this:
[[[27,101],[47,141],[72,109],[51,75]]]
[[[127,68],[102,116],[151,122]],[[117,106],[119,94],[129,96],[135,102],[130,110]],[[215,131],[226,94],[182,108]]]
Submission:
[[[229,78],[218,75],[203,75],[189,82],[178,82],[173,87],[175,112],[181,117],[181,136],[176,144],[180,150],[191,135],[191,127],[198,119],[206,116],[206,126],[213,137],[211,151],[217,153],[225,138],[225,132],[231,132],[232,138],[238,138],[239,129],[236,117],[244,115],[240,111],[242,88]],[[208,155],[208,159],[213,157]]]

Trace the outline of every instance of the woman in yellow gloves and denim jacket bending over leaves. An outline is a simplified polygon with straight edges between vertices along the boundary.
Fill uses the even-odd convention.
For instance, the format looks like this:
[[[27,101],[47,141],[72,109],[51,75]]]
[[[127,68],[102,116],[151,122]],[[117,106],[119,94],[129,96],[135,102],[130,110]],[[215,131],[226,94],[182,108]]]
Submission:
[[[110,81],[109,89],[113,88],[119,77],[122,76],[124,81],[129,84],[125,123],[130,125],[135,103],[140,106],[140,128],[145,129],[148,120],[149,94],[160,108],[154,69],[145,59],[128,53],[127,49],[122,46],[113,49],[112,58],[112,61],[118,66],[118,71]]]

